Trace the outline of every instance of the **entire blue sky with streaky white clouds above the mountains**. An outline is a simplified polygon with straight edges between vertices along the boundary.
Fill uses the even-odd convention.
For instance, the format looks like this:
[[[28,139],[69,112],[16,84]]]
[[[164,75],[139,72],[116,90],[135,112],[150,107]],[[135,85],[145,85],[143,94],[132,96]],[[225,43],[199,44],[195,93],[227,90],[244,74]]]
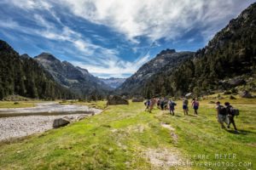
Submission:
[[[97,77],[129,77],[161,50],[196,51],[252,0],[1,0],[0,39]]]

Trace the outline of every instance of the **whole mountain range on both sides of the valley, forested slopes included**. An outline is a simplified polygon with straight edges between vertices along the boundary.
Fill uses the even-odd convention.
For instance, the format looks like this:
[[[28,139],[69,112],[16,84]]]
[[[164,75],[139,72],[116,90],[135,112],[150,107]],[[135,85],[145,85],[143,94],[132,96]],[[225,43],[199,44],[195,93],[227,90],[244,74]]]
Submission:
[[[214,23],[212,23],[214,24]],[[197,96],[239,88],[256,90],[256,3],[196,52],[166,49],[127,79],[94,77],[89,71],[42,53],[19,55],[0,41],[0,99],[9,94],[39,99],[102,99],[127,96]]]

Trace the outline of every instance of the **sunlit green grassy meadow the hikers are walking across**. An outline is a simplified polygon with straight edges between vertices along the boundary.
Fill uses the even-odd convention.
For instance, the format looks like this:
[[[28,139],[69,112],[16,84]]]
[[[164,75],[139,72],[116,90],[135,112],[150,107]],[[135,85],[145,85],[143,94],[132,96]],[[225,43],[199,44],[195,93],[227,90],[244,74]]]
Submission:
[[[1,144],[0,169],[255,168],[256,100],[230,100],[241,111],[239,133],[220,128],[210,100],[201,101],[199,116],[192,109],[183,116],[181,101],[175,116],[158,109],[149,114],[143,103],[108,106],[67,127]],[[90,105],[105,107],[103,101]]]

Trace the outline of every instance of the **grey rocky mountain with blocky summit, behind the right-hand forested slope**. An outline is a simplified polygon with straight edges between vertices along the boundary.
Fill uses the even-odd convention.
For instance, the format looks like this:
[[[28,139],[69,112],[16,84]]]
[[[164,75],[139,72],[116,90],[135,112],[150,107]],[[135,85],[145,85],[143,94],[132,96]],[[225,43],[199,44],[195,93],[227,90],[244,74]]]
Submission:
[[[144,64],[134,75],[127,78],[125,82],[118,88],[119,94],[141,94],[143,93],[144,83],[153,77],[163,67],[175,67],[193,56],[193,52],[176,52],[174,49],[166,49],[157,54]]]

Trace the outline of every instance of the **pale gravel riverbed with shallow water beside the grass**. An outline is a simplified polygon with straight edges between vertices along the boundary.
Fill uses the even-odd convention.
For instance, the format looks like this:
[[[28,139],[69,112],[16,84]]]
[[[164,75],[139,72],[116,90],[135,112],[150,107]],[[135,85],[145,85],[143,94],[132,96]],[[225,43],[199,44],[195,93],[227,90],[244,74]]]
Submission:
[[[33,108],[1,109],[0,115],[7,116],[0,117],[0,141],[20,138],[33,133],[43,133],[53,128],[53,122],[57,118],[68,117],[74,121],[101,112],[101,110],[87,106],[59,105],[57,103],[39,104]],[[45,113],[47,115],[44,115]],[[28,116],[20,116],[23,114]]]

